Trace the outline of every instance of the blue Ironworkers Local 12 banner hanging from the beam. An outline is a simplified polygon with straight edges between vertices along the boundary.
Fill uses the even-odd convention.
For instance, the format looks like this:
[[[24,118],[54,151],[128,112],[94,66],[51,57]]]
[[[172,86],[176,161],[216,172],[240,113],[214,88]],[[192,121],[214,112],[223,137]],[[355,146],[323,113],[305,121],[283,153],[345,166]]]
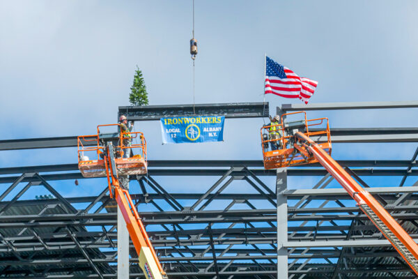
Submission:
[[[179,116],[161,119],[163,144],[223,142],[225,116]]]

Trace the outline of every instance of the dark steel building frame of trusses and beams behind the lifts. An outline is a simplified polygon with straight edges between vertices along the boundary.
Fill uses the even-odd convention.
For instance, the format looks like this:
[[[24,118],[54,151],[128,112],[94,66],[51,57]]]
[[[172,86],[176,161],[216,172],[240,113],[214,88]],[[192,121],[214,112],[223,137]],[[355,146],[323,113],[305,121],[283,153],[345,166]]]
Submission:
[[[403,130],[392,135],[418,142],[414,129]],[[341,136],[379,142],[364,140],[364,133],[373,131]],[[24,148],[53,148],[53,142],[38,139]],[[0,150],[22,149],[21,143],[1,141]],[[418,183],[406,181],[418,175],[417,154],[339,163],[418,240]],[[287,267],[288,278],[415,278],[350,197],[329,188],[333,179],[318,165],[286,173],[262,166],[259,160],[151,160],[148,176],[131,177],[139,189],[132,198],[169,278],[277,278],[278,264]],[[217,178],[201,183],[202,192],[183,193],[167,190],[166,178],[173,176],[184,176],[185,183],[191,176]],[[277,180],[277,189],[266,176]],[[318,183],[288,190],[288,176],[315,176]],[[369,188],[359,176],[397,176],[401,183]],[[0,169],[0,278],[116,278],[116,204],[107,185],[97,196],[63,197],[50,184],[69,179],[83,179],[77,164]],[[240,193],[229,190],[235,183]],[[22,199],[33,187],[51,195]],[[283,222],[286,228],[277,225]],[[130,277],[144,278],[130,247]]]

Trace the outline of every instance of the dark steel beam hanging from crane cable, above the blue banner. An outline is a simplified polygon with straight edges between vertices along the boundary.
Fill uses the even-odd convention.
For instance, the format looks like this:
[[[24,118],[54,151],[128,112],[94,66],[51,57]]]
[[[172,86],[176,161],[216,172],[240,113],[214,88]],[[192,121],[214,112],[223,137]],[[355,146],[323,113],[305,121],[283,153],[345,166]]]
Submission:
[[[144,105],[119,107],[118,116],[128,121],[160,120],[175,116],[225,116],[225,118],[268,117],[268,103],[219,103],[198,105]]]

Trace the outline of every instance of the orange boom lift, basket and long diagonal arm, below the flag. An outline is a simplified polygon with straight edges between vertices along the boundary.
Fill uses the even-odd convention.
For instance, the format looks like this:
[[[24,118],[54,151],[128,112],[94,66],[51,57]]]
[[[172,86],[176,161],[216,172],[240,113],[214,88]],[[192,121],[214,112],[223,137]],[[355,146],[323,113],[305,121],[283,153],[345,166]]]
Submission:
[[[306,112],[302,121],[284,122],[289,114],[281,116],[281,123],[276,126],[281,136],[276,140],[269,139],[266,132],[272,126],[261,128],[263,160],[266,169],[288,167],[309,163],[320,163],[336,181],[355,199],[360,209],[369,217],[392,246],[405,259],[405,262],[418,275],[418,245],[405,229],[383,208],[383,206],[366,190],[359,186],[348,172],[331,157],[330,126],[328,119],[307,120]],[[309,131],[311,126],[324,126],[323,130]],[[267,136],[266,136],[267,135]],[[323,135],[326,141],[317,144],[309,136]],[[277,146],[277,150],[268,151],[268,145]]]

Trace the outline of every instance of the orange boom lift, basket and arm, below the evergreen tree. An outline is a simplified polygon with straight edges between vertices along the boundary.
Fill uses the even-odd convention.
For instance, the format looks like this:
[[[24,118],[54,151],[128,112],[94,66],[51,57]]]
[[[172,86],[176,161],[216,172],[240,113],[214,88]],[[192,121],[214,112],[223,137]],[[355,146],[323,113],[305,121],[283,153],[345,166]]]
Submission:
[[[140,132],[134,133],[100,133],[104,126],[118,126],[118,124],[98,126],[97,135],[84,135],[77,138],[79,169],[84,177],[107,176],[109,195],[115,198],[125,219],[130,238],[134,243],[139,257],[139,266],[147,279],[167,279],[155,250],[148,238],[145,227],[132,199],[125,187],[125,183],[132,174],[146,174],[146,141]],[[139,144],[127,146],[127,140],[139,139]],[[85,142],[97,142],[94,146],[84,146]],[[130,149],[136,150],[137,155],[124,158]],[[90,160],[86,153],[95,153],[97,160]]]

